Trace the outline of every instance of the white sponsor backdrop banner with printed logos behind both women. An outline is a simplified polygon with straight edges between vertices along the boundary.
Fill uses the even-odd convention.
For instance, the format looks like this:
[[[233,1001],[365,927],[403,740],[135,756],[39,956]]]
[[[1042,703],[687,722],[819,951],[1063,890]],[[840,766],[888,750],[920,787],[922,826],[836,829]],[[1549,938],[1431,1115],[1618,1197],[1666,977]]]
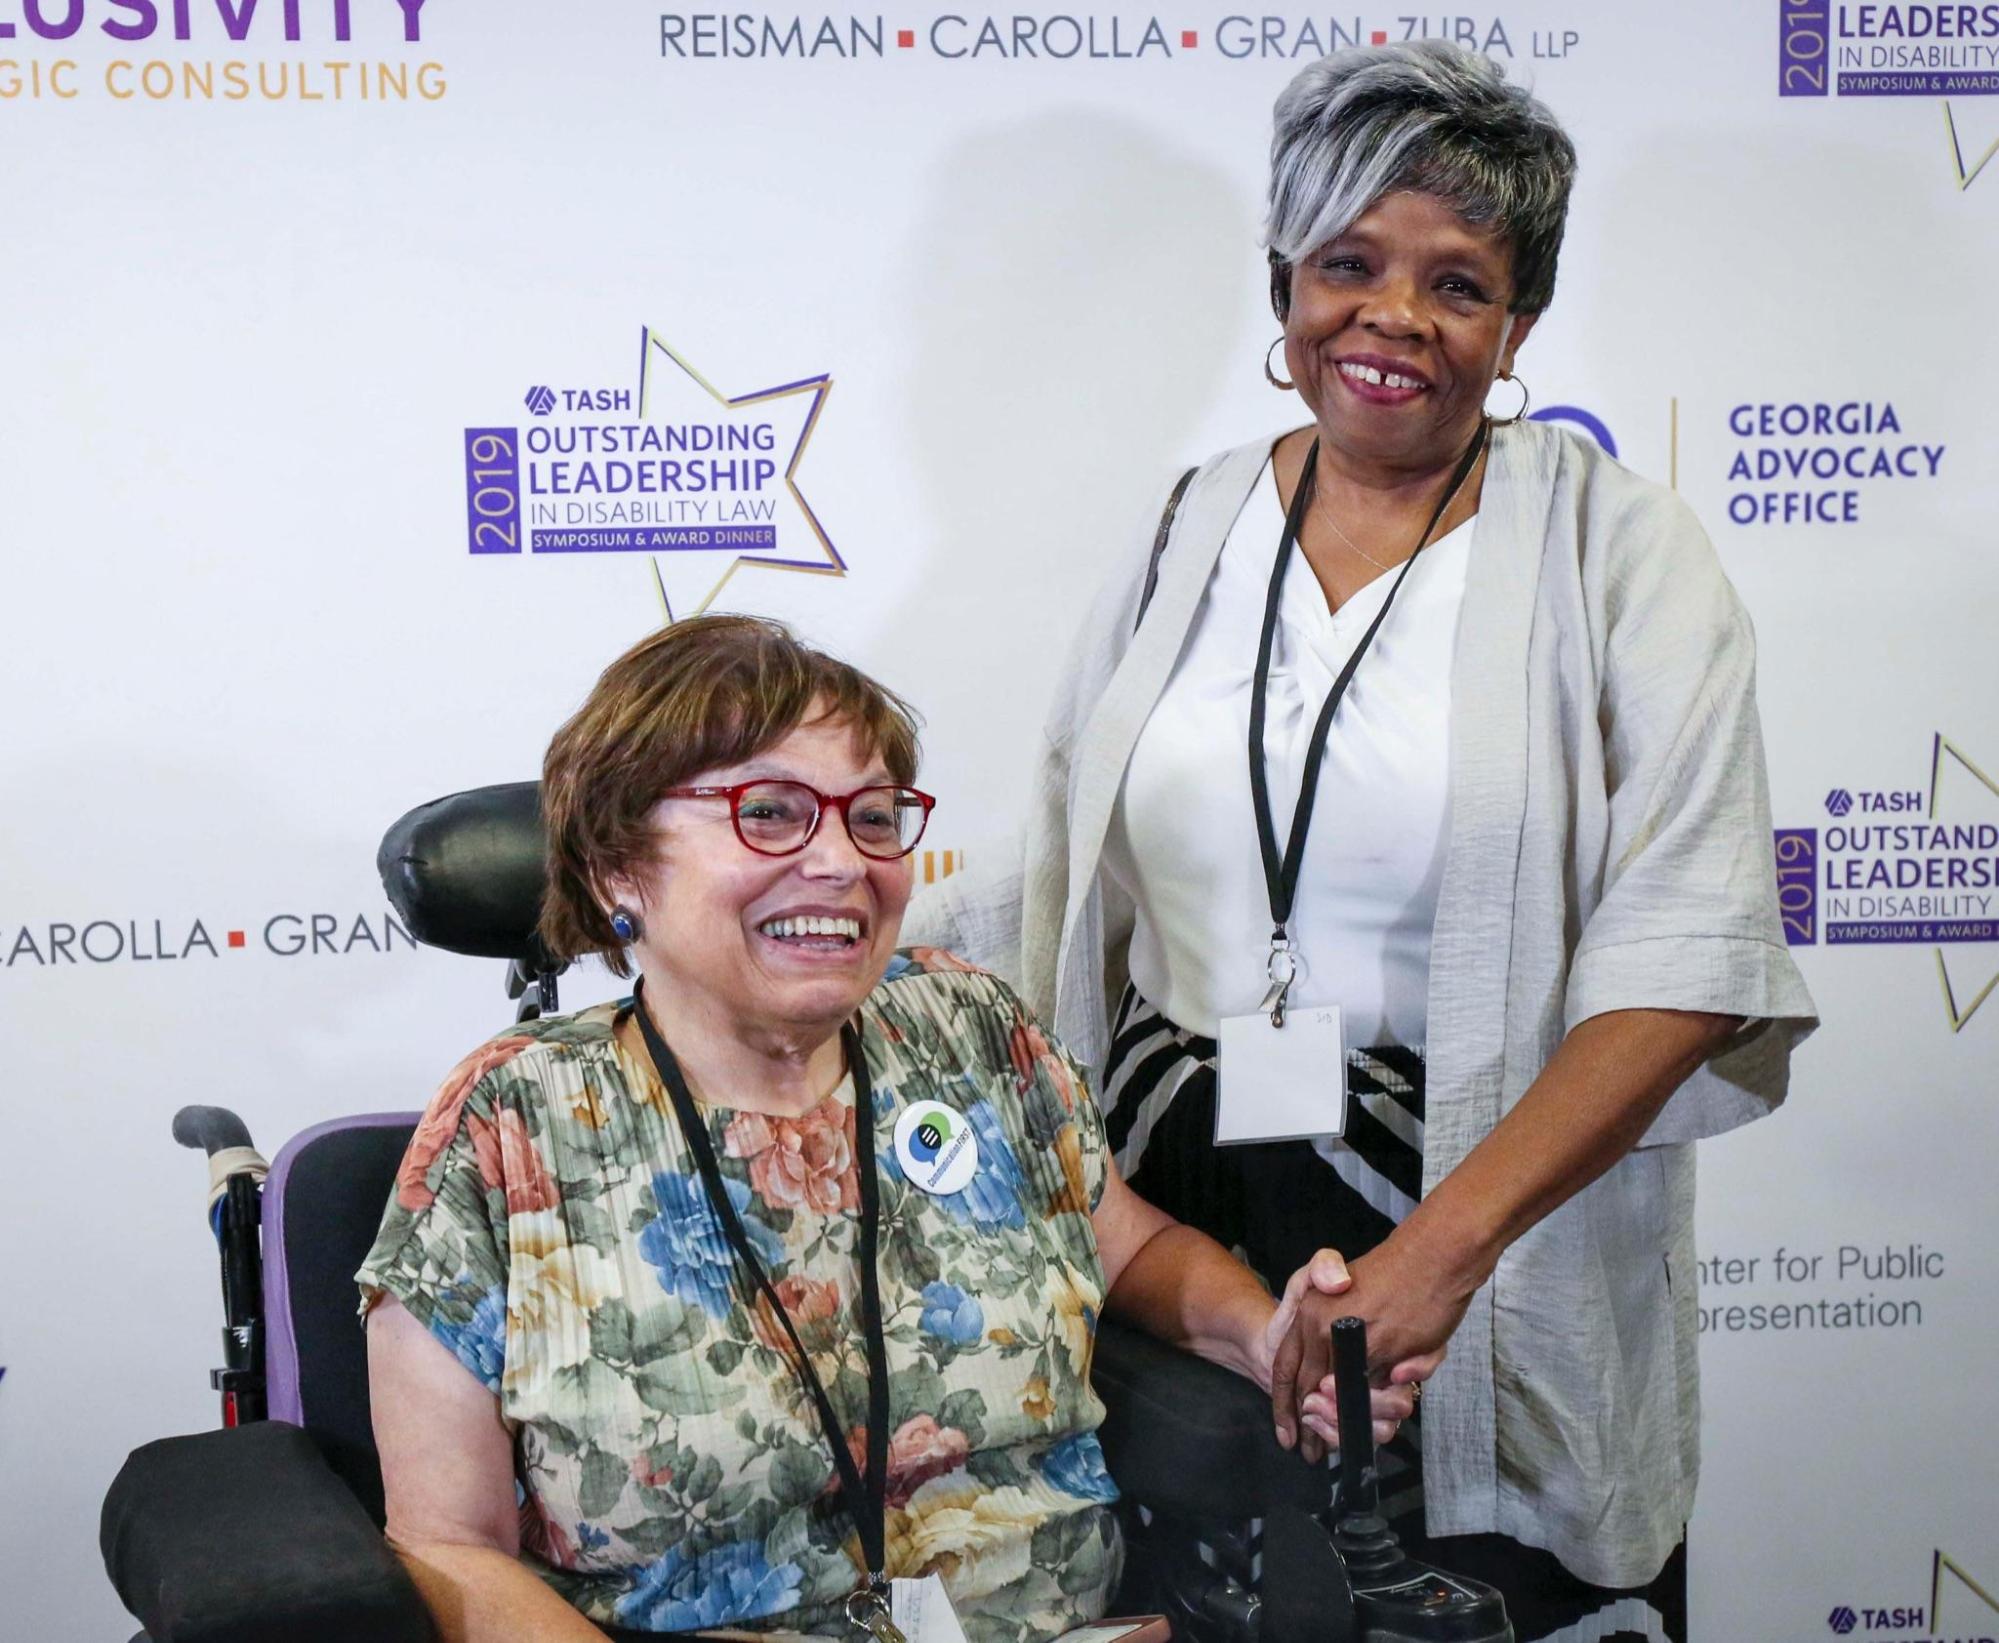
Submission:
[[[1695,1635],[1999,1635],[1999,6],[1827,0],[0,0],[0,1633],[130,1635],[98,1501],[214,1421],[172,1111],[276,1151],[510,1019],[384,827],[712,604],[922,706],[926,871],[994,847],[1105,562],[1299,416],[1271,98],[1411,34],[1573,132],[1521,376],[1761,636],[1825,1027],[1703,1149]]]

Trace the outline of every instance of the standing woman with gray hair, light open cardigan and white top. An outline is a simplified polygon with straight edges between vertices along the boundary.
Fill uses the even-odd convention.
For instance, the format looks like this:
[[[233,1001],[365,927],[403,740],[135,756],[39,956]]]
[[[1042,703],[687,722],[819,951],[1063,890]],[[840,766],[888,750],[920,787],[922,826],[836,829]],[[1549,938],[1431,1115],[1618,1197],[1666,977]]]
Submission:
[[[1311,422],[1181,482],[1085,622],[1019,877],[912,921],[1101,1067],[1147,1199],[1265,1275],[1359,1253],[1279,1435],[1317,1447],[1325,1323],[1365,1315],[1377,1375],[1433,1373],[1405,1543],[1523,1643],[1677,1641],[1691,1143],[1783,1099],[1815,1015],[1749,622],[1677,496],[1519,420],[1573,170],[1443,42],[1289,84],[1267,372]]]

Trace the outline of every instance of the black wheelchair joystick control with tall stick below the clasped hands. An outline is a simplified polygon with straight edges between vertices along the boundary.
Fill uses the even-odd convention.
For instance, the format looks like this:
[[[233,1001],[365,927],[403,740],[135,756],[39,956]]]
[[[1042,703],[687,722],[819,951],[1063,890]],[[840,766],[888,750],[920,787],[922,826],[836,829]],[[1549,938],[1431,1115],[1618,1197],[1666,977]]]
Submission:
[[[1513,1643],[1489,1585],[1409,1557],[1381,1517],[1367,1325],[1333,1323],[1339,1489],[1329,1511],[1263,1525],[1263,1643]]]

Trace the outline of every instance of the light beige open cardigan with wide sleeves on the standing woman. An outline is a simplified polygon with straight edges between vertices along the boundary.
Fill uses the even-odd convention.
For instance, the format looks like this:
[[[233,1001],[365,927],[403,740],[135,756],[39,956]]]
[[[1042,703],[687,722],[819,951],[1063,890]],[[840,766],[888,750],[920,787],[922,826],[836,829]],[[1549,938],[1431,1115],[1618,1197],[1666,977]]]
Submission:
[[[1103,831],[1269,448],[1197,470],[1135,634],[1149,530],[1115,568],[1047,720],[1019,857],[942,881],[906,925],[1013,981],[1085,1065],[1103,1061],[1131,931]],[[1569,1027],[1631,1007],[1749,1025],[1507,1249],[1423,1403],[1429,1533],[1505,1533],[1599,1585],[1649,1581],[1693,1507],[1691,1141],[1775,1107],[1817,1017],[1777,917],[1755,640],[1707,536],[1595,444],[1505,426],[1451,676],[1423,1189]]]

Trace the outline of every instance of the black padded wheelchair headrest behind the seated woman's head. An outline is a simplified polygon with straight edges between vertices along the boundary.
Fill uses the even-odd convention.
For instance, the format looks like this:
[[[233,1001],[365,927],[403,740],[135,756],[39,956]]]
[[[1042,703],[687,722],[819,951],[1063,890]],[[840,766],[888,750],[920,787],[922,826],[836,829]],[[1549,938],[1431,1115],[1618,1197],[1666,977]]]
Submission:
[[[382,835],[376,871],[390,905],[430,947],[560,969],[542,915],[542,784],[502,782],[420,804]]]

